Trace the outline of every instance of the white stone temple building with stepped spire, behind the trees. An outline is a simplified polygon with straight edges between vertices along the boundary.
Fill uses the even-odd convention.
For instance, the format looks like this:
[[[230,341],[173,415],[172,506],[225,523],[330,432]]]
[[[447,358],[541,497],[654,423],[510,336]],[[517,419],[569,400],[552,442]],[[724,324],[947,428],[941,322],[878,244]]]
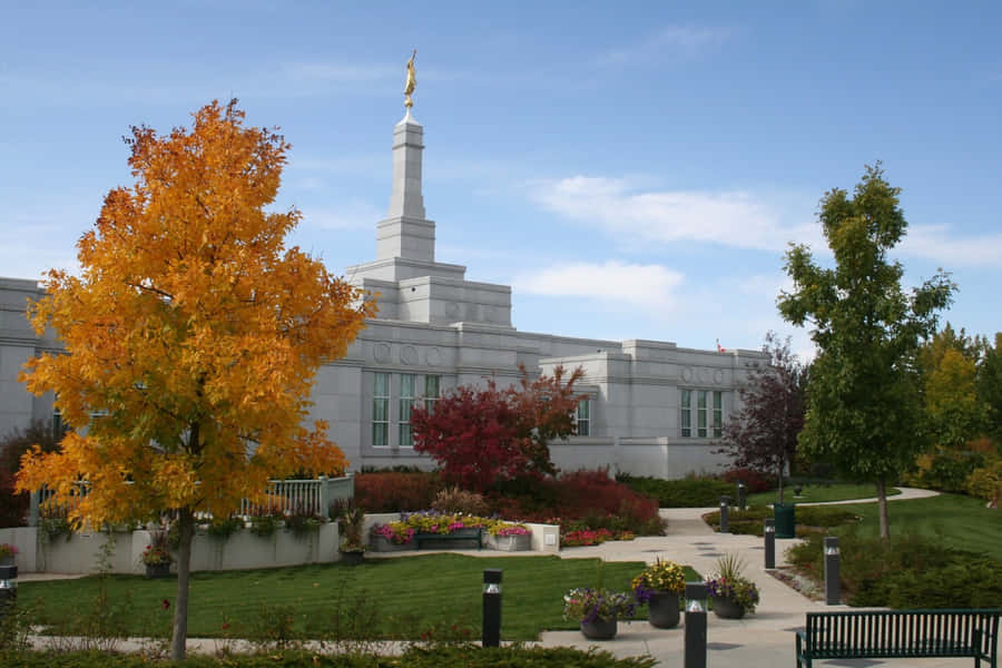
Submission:
[[[746,367],[767,362],[758,351],[700,351],[659,341],[601,341],[519,332],[511,324],[511,287],[466,281],[466,267],[435,262],[435,223],[422,196],[424,128],[406,116],[393,128],[393,186],[386,218],[376,224],[376,257],[347,267],[346,278],[377,294],[379,314],[347,355],[320,370],[313,418],[351,468],[433,462],[414,452],[411,406],[451,387],[494,377],[503,386],[562,364],[584,370],[577,389],[578,435],[551,445],[564,470],[609,466],[636,475],[680,478],[717,471],[715,440],[736,412]],[[58,350],[24,317],[35,281],[0,278],[0,434],[32,419],[53,421],[52,397],[35,397],[17,381],[33,355]]]

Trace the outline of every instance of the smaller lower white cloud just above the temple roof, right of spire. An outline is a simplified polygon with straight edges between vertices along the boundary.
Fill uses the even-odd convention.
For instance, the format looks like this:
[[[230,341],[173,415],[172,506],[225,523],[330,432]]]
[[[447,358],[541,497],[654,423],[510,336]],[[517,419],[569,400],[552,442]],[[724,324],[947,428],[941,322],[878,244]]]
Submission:
[[[620,262],[568,263],[515,275],[512,287],[550,297],[580,297],[631,307],[665,308],[685,276],[665,266]]]

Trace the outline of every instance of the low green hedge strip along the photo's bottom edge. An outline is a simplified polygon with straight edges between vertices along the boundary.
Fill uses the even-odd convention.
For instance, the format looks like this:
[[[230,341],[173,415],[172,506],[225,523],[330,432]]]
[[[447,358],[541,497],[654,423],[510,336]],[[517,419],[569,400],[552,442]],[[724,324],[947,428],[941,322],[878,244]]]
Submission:
[[[23,652],[0,655],[4,666],[20,668],[146,668],[149,658],[139,655],[112,655],[104,652]],[[520,668],[652,668],[657,660],[652,657],[616,658],[608,651],[591,649],[582,651],[569,647],[500,647],[480,648],[474,645],[411,647],[402,656],[375,655],[316,655],[304,651],[267,652],[257,655],[232,655],[225,659],[207,656],[190,656],[180,664],[160,665],[185,668],[208,668],[229,666],[233,668],[298,668],[317,666],[321,668],[489,668],[505,666]]]

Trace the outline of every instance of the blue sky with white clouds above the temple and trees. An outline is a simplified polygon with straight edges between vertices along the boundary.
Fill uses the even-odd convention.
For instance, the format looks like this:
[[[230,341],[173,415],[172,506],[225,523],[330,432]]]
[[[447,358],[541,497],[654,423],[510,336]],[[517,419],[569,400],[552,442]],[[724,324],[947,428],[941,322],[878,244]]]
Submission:
[[[371,6],[371,7],[370,7]],[[292,143],[277,208],[336,272],[375,257],[418,49],[436,257],[519,330],[755,348],[788,242],[882,160],[906,285],[991,334],[1002,287],[998,2],[2,3],[0,276],[76,265],[132,125],[214,98]]]

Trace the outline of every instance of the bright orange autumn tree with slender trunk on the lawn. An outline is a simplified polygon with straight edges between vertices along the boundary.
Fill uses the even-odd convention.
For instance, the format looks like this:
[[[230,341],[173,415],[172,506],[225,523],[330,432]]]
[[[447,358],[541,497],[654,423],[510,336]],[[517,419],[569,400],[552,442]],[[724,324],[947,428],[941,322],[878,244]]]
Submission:
[[[71,520],[92,527],[176,512],[175,659],[195,513],[228,517],[269,478],[344,470],[327,425],[304,426],[308,395],[373,311],[285,246],[299,212],[264,207],[289,146],[243,119],[234,100],[197,111],[190,131],[132,128],[136,184],[111,190],[80,238],[80,275],[49,272],[29,305],[36,332],[51,327],[68,354],[31,360],[21,380],[55,392],[76,431],[58,452],[26,454],[18,489],[66,499],[88,481]]]

